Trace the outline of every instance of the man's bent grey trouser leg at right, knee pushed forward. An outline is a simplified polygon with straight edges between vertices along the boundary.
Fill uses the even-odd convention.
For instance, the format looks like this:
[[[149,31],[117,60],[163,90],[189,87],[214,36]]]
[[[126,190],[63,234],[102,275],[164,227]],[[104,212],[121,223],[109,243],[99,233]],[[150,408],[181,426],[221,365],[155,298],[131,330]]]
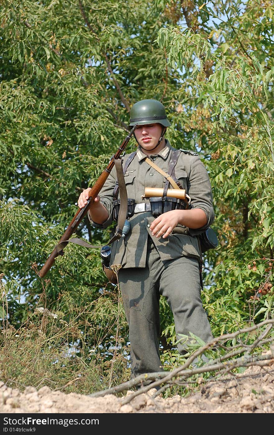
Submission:
[[[203,341],[213,336],[206,312],[202,307],[199,263],[194,258],[181,257],[167,261],[160,277],[160,294],[167,298],[174,316],[177,340],[180,334],[192,332]],[[183,344],[178,351],[184,353]]]

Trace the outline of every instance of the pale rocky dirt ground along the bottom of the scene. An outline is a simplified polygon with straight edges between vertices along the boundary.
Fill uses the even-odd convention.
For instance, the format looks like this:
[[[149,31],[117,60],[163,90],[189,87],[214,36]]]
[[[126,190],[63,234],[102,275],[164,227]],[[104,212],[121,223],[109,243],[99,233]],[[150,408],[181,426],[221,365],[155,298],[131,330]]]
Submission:
[[[119,398],[112,394],[93,398],[49,387],[27,387],[20,392],[0,382],[0,413],[274,413],[274,365],[254,366],[226,381],[212,379],[186,398],[153,398],[155,391],[132,399],[133,391]]]

